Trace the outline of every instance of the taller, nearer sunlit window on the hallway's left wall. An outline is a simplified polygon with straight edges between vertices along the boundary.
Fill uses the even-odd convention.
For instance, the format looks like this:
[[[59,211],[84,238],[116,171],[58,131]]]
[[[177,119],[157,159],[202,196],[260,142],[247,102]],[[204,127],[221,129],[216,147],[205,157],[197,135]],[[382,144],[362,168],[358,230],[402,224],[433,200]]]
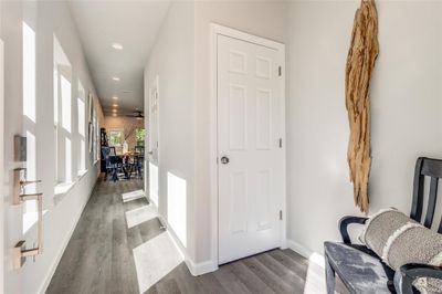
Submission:
[[[55,183],[73,180],[72,66],[54,35],[54,143]]]

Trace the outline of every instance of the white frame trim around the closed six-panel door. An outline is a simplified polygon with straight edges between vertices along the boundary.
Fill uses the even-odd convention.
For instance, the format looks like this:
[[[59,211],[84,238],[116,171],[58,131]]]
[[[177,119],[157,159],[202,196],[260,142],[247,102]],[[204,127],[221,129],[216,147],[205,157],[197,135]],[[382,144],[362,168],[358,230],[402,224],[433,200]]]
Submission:
[[[287,213],[286,213],[286,134],[285,134],[285,45],[275,41],[271,41],[267,39],[263,39],[261,36],[256,36],[253,34],[244,33],[234,29],[230,29],[223,25],[219,25],[215,23],[210,24],[210,193],[211,193],[211,221],[212,221],[212,244],[211,244],[211,261],[213,270],[218,269],[219,259],[218,259],[218,35],[225,35],[233,39],[242,40],[245,42],[250,42],[253,44],[266,46],[270,49],[274,49],[280,51],[281,59],[281,74],[283,78],[280,81],[281,93],[282,93],[282,103],[281,103],[281,114],[283,118],[283,130],[282,130],[282,149],[284,153],[284,176],[282,182],[284,185],[284,196],[283,201],[281,203],[281,209],[283,212],[283,221],[282,221],[282,237],[281,237],[281,248],[286,248],[286,234],[287,234]]]

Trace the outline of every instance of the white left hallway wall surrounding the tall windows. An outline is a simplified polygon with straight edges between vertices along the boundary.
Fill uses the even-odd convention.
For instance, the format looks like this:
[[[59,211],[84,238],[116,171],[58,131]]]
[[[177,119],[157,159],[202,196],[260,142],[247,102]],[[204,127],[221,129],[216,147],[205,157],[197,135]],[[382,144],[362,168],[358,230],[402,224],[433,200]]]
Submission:
[[[35,262],[28,259],[24,267],[19,271],[11,269],[11,259],[6,261],[6,293],[36,293],[44,292],[53,271],[69,242],[77,219],[88,200],[92,188],[97,178],[97,166],[91,160],[86,167],[88,172],[77,178],[73,188],[63,197],[54,201],[54,128],[53,128],[53,35],[55,34],[73,65],[72,78],[72,132],[77,133],[76,97],[77,81],[81,80],[86,92],[95,95],[94,85],[90,77],[83,50],[72,21],[71,12],[65,2],[1,2],[1,38],[6,42],[6,109],[4,114],[4,170],[11,174],[19,164],[13,161],[13,136],[23,133],[22,115],[22,21],[29,23],[35,31],[36,38],[36,178],[43,182],[39,191],[44,195],[44,209],[48,213],[43,220],[43,254],[36,256]],[[103,115],[98,102],[95,99],[98,119]],[[75,137],[75,135],[74,135]],[[73,155],[76,155],[76,146]],[[73,169],[76,169],[76,156],[73,157]],[[75,170],[76,171],[76,170]],[[76,175],[76,172],[74,174]],[[10,176],[10,175],[8,175]],[[3,185],[3,183],[2,183]],[[22,208],[10,204],[11,182],[6,179],[8,190],[6,197],[6,249],[8,253],[22,239]],[[28,246],[35,239],[36,228],[32,228],[24,238]]]

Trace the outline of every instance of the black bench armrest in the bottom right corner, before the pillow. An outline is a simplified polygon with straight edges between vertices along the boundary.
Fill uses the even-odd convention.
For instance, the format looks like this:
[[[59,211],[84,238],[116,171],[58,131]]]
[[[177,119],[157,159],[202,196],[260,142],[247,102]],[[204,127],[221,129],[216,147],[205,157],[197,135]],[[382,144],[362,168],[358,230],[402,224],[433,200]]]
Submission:
[[[394,288],[399,294],[413,294],[413,282],[419,277],[442,280],[442,266],[409,263],[402,265],[394,274]]]

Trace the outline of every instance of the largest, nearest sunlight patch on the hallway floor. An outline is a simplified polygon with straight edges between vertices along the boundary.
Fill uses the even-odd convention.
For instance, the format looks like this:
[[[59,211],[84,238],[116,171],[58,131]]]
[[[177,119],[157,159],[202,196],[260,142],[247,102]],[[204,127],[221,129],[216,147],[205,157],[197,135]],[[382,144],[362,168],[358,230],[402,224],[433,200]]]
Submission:
[[[183,259],[168,233],[134,249],[139,292],[144,293],[170,273]]]

